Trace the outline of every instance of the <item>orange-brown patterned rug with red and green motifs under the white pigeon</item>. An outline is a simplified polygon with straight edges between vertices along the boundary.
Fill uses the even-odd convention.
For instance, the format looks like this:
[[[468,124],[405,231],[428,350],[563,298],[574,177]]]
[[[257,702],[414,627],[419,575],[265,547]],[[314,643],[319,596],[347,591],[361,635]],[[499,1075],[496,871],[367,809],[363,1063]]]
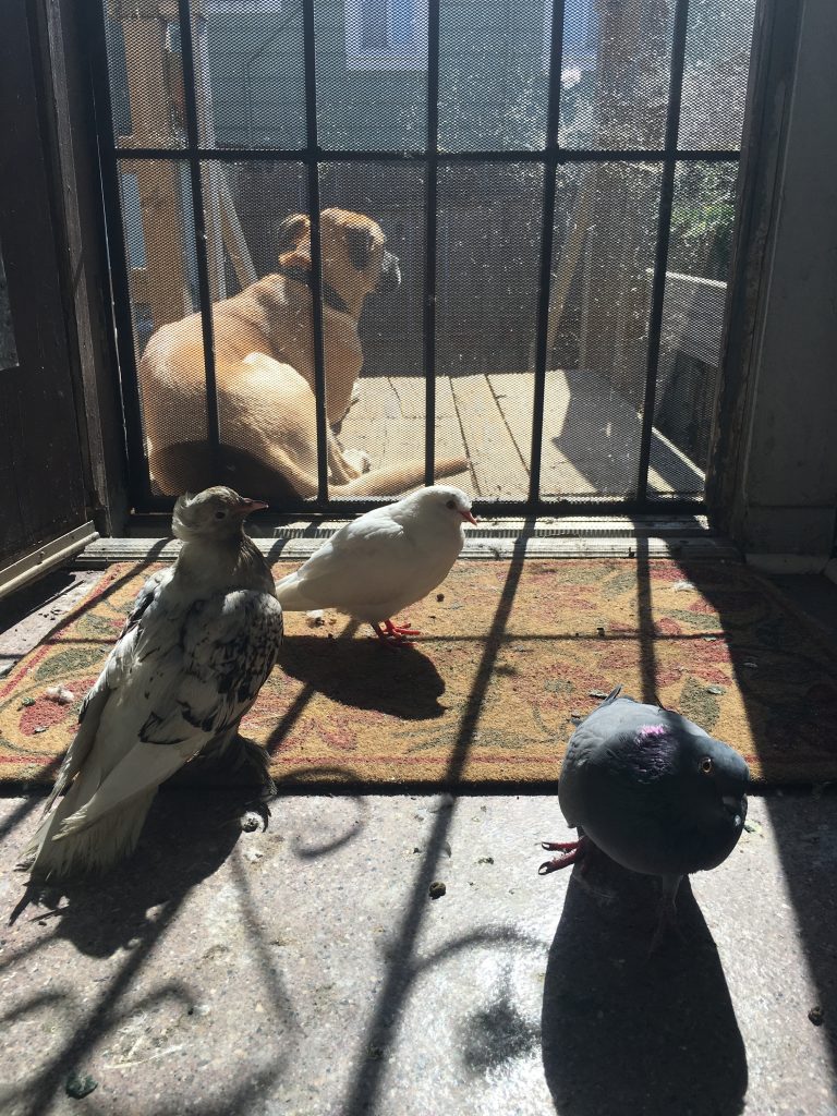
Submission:
[[[51,781],[155,568],[112,567],[3,681],[0,781]],[[617,683],[725,740],[757,781],[837,778],[834,648],[744,566],[461,560],[406,618],[422,637],[389,651],[336,613],[319,627],[287,615],[280,664],[242,727],[277,782],[548,787],[575,724]],[[57,685],[69,704],[46,695]]]

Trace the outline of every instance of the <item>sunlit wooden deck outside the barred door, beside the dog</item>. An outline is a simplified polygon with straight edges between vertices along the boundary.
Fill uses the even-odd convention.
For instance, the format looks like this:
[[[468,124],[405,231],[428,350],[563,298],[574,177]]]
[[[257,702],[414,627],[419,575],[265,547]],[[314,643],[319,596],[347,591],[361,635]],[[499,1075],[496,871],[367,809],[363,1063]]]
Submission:
[[[464,455],[449,479],[472,497],[519,500],[529,492],[535,377],[531,373],[439,377],[436,459]],[[373,468],[423,459],[424,381],[371,377],[343,424],[340,441],[366,450]],[[585,371],[547,373],[541,494],[546,499],[623,497],[634,488],[641,421],[607,381]],[[703,491],[704,474],[657,431],[652,496]]]

